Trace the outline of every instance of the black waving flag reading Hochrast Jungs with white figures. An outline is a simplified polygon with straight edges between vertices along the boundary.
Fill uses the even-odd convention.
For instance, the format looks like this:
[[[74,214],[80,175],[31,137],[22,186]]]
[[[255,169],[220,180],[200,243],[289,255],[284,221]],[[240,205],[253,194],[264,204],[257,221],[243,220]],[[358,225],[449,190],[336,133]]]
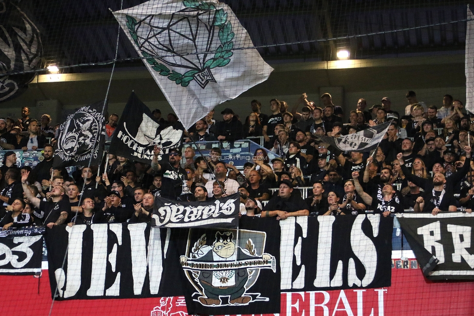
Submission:
[[[109,154],[150,163],[155,145],[167,154],[181,145],[182,136],[179,122],[171,126],[156,123],[150,109],[132,92],[110,142]]]

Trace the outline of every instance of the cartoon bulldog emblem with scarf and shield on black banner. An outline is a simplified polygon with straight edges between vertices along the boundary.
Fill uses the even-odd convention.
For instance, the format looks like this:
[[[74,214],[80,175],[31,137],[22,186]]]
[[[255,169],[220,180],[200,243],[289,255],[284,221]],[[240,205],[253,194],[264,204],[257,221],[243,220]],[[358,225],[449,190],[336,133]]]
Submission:
[[[260,297],[260,293],[247,293],[258,279],[260,269],[276,271],[274,256],[257,254],[257,248],[265,248],[266,234],[239,230],[239,239],[247,240],[242,248],[234,241],[236,232],[232,229],[217,231],[212,246],[206,245],[204,233],[192,249],[186,251],[189,256],[180,257],[186,277],[198,291],[194,293],[193,299],[204,306],[248,305],[257,300],[268,301],[268,298]],[[189,234],[191,237],[192,232]]]

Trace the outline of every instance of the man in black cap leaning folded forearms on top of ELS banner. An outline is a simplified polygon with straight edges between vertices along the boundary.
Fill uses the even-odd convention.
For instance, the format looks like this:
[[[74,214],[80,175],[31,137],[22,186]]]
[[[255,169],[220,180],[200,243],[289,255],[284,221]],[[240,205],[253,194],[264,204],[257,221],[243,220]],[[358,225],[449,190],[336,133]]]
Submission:
[[[278,195],[273,195],[262,210],[261,217],[276,217],[277,220],[288,216],[309,215],[308,206],[300,194],[293,193],[293,185],[288,180],[280,181]]]

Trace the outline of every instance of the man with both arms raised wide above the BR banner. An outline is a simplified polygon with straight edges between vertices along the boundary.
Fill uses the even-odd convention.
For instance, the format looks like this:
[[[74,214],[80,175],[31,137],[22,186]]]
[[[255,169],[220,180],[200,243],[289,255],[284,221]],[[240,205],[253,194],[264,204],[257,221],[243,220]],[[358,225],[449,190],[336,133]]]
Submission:
[[[457,201],[453,196],[453,189],[455,184],[466,175],[471,165],[471,147],[464,146],[464,151],[466,160],[459,171],[447,178],[441,173],[435,173],[432,181],[412,175],[410,169],[404,164],[402,153],[397,155],[406,179],[424,190],[423,195],[416,200],[414,207],[416,212],[431,212],[436,215],[440,211],[457,211]]]

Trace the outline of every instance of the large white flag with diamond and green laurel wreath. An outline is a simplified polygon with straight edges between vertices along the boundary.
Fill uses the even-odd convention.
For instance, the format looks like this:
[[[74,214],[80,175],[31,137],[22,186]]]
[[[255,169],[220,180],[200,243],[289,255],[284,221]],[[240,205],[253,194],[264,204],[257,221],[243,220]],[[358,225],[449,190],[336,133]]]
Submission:
[[[150,0],[114,15],[186,129],[273,70],[217,0]]]

